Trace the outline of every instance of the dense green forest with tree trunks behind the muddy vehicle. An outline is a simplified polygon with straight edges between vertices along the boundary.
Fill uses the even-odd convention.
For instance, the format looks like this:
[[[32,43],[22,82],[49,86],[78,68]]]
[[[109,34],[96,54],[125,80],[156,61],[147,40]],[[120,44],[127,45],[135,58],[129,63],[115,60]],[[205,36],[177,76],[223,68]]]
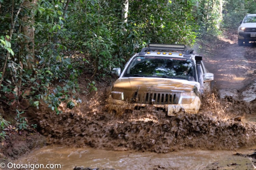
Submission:
[[[255,0],[0,0],[1,139],[9,124],[28,128],[24,99],[61,114],[61,102],[73,108],[79,101],[81,74],[90,74],[89,94],[149,43],[193,47],[236,31],[249,13]],[[8,110],[15,122],[3,117]]]

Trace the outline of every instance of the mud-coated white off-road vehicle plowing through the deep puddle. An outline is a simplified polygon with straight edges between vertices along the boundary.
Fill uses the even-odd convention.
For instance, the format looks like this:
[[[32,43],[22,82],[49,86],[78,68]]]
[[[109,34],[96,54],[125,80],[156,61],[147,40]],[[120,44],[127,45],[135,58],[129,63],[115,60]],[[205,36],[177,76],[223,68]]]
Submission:
[[[145,107],[168,116],[196,114],[214,80],[202,56],[184,45],[149,44],[130,58],[122,73],[120,68],[113,72],[119,78],[110,91],[108,110],[118,115]]]

